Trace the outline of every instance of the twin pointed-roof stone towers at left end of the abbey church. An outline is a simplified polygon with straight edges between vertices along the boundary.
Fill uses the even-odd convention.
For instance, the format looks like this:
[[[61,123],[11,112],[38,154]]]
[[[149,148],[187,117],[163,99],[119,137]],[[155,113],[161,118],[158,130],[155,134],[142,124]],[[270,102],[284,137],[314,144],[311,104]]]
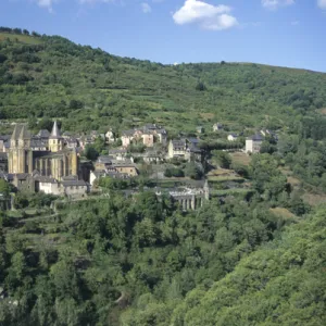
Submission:
[[[25,125],[15,125],[10,139],[9,173],[32,173],[30,134]]]

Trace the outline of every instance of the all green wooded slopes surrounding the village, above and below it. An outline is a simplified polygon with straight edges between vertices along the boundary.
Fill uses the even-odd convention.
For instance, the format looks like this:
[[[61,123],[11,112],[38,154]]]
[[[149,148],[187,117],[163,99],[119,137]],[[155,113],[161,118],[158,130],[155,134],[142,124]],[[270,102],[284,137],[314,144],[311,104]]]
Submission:
[[[0,122],[117,134],[160,123],[170,137],[221,122],[278,136],[242,165],[203,133],[212,162],[250,191],[197,211],[149,191],[146,174],[129,181],[135,196],[109,178],[103,196],[76,202],[16,192],[16,211],[0,211],[0,325],[326,325],[326,206],[304,198],[325,199],[325,82],[251,63],[163,65],[0,27]],[[0,178],[0,204],[12,191]]]

